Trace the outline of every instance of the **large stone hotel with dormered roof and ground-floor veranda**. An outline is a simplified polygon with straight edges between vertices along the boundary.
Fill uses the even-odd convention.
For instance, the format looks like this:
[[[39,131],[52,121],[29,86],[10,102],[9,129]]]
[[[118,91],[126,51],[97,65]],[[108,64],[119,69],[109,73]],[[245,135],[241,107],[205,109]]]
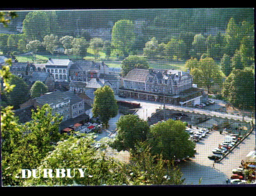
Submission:
[[[121,94],[138,99],[188,106],[202,103],[205,96],[203,89],[192,87],[192,76],[184,71],[132,69],[122,81]]]

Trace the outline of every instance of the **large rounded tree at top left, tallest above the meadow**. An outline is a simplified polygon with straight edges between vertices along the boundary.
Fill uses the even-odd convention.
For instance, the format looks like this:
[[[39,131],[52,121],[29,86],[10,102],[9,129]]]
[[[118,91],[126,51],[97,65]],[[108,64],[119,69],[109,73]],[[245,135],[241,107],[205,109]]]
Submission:
[[[23,21],[23,32],[29,40],[44,39],[50,34],[50,20],[46,12],[29,12]]]

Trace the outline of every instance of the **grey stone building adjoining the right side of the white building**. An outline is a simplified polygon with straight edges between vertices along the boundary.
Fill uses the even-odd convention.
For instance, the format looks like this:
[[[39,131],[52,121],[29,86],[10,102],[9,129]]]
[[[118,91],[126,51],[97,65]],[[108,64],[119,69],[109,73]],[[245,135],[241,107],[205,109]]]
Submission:
[[[108,74],[109,68],[104,62],[76,61],[70,66],[70,81],[88,82],[92,78],[98,78],[100,74]]]

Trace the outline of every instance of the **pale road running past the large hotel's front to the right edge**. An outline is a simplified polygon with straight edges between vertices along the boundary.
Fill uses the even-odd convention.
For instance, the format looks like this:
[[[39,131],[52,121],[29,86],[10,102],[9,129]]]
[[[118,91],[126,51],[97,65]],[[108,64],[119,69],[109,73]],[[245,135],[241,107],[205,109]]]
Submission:
[[[117,95],[115,96],[116,100],[122,100],[122,101],[128,101],[132,103],[140,103],[142,106],[136,114],[140,116],[140,118],[146,120],[146,117],[150,117],[153,112],[156,112],[157,108],[160,108],[161,105],[163,104],[158,103],[158,102],[152,102],[152,101],[146,101],[146,100],[135,100],[132,98],[120,98]],[[216,116],[220,118],[228,118],[228,119],[233,119],[233,120],[243,120],[242,116],[236,116],[232,114],[227,114],[224,112],[215,112],[212,110],[203,110],[203,109],[197,109],[197,108],[188,108],[188,107],[181,107],[181,106],[173,106],[171,104],[165,104],[166,108],[171,109],[171,110],[179,110],[179,111],[184,111],[184,112],[194,112],[197,114],[204,114],[207,116]],[[252,118],[244,117],[245,122],[250,122],[252,121]],[[255,124],[255,119],[253,120]]]

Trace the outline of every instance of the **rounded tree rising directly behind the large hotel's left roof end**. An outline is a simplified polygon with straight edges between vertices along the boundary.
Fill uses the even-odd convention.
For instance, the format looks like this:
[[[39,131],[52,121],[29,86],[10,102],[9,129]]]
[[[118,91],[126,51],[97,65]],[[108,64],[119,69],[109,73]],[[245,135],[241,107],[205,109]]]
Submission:
[[[140,67],[137,67],[136,65],[140,64]],[[134,68],[138,69],[148,69],[148,61],[144,59],[143,57],[139,57],[136,55],[130,55],[129,57],[126,57],[122,63],[121,63],[121,73],[122,76],[125,76],[129,71],[131,71]]]

